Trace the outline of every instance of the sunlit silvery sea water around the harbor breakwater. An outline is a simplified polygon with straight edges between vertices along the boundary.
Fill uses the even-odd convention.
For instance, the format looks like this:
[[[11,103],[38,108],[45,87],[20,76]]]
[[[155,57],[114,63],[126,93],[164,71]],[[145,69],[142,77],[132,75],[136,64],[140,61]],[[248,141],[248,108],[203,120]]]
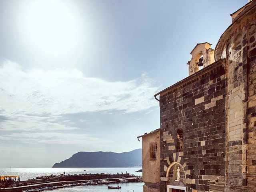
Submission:
[[[142,172],[136,172],[142,169],[141,167],[128,167],[128,168],[12,168],[12,175],[20,175],[20,180],[33,179],[38,176],[49,176],[63,174],[96,174],[96,173],[111,173],[121,174],[130,173],[137,176],[142,176]],[[84,172],[83,170],[86,170]],[[10,168],[0,168],[0,175],[10,175]],[[76,186],[73,188],[58,189],[58,192],[142,192],[143,182],[130,182],[130,183],[118,183],[110,184],[110,186],[121,186],[121,189],[108,189],[106,184],[95,186]]]

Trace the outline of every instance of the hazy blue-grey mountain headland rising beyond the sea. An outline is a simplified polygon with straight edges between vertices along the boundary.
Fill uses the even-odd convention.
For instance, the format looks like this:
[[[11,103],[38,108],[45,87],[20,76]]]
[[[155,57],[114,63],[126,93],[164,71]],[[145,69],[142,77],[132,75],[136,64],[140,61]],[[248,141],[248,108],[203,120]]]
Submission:
[[[130,152],[78,152],[69,159],[55,163],[53,168],[74,167],[140,167],[142,166],[142,149]]]

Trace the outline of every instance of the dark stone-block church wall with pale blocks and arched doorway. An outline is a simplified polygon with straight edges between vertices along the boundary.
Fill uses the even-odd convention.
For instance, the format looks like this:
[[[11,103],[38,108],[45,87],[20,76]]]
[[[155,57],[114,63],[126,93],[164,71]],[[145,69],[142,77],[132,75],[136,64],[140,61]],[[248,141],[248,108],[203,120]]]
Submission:
[[[189,192],[224,191],[225,183],[225,60],[198,72],[181,87],[160,94],[162,189],[165,185],[187,186]],[[177,130],[183,130],[184,151],[177,152]],[[175,154],[175,155],[174,155]],[[172,182],[165,167],[179,162],[185,176]],[[166,180],[166,181],[165,181]]]

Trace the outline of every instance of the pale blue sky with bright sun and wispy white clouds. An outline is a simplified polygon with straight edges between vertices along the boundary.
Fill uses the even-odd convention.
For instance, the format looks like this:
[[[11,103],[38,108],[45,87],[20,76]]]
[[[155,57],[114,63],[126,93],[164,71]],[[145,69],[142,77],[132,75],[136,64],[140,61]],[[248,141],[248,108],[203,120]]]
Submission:
[[[127,152],[247,0],[0,0],[0,167]]]

